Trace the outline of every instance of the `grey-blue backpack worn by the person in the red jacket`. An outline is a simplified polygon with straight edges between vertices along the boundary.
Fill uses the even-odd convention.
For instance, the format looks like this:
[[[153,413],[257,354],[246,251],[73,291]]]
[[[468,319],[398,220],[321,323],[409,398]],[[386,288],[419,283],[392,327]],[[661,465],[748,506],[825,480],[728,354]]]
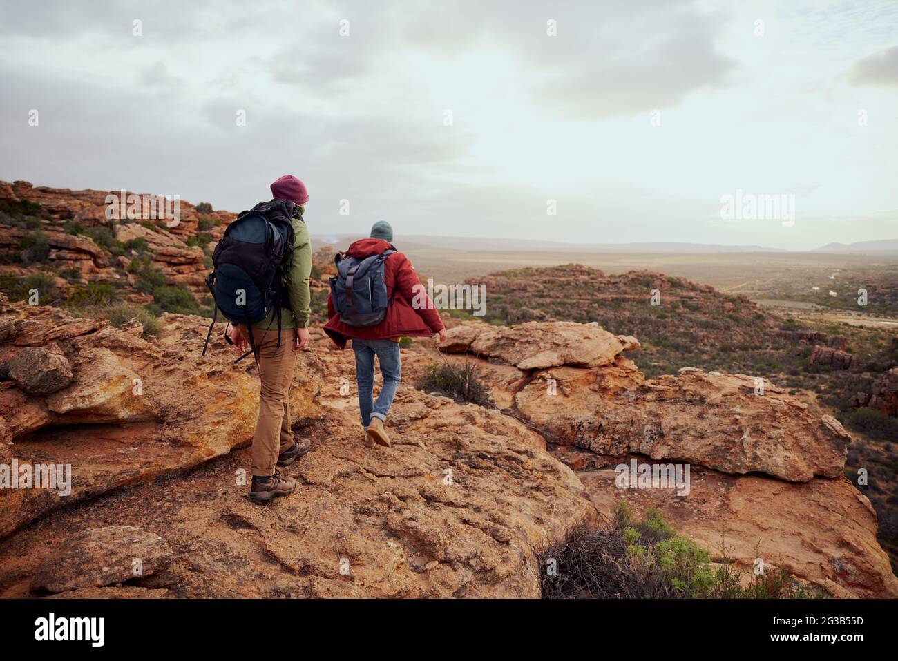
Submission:
[[[337,275],[330,278],[330,299],[343,323],[359,327],[383,322],[392,303],[387,297],[383,269],[394,252],[396,249],[390,246],[389,250],[364,260],[340,254],[334,257]]]

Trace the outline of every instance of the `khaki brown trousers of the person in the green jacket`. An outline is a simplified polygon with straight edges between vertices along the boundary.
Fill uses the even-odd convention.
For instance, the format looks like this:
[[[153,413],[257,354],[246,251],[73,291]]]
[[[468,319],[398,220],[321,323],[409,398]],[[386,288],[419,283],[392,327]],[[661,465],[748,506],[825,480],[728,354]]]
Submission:
[[[277,329],[253,329],[252,339],[259,348],[261,376],[259,420],[252,435],[252,474],[268,477],[275,472],[277,455],[293,445],[290,429],[290,401],[287,393],[293,383],[296,365],[294,329],[281,330],[281,346],[277,346]]]

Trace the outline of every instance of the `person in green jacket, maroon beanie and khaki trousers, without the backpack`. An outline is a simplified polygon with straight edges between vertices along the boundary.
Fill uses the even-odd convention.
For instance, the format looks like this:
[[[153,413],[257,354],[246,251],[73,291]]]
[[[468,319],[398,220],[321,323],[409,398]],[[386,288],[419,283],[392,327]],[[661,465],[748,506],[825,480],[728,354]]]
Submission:
[[[293,383],[296,351],[309,346],[310,308],[309,276],[312,272],[312,242],[303,220],[309,194],[302,181],[285,175],[271,184],[275,199],[292,202],[291,218],[295,250],[286,271],[286,301],[281,313],[280,348],[275,310],[252,327],[252,339],[258,349],[261,376],[259,419],[252,435],[252,486],[250,498],[267,502],[286,496],[296,486],[294,478],[278,474],[277,466],[289,466],[307,453],[308,439],[296,440],[290,428],[289,390]],[[247,350],[248,330],[235,326],[233,347],[239,354]]]

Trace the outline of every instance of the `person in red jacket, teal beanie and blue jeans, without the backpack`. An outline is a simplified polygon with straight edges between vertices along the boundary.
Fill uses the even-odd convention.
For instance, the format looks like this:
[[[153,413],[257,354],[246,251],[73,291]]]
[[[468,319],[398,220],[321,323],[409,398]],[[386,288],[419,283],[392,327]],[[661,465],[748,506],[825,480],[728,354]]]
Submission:
[[[354,242],[344,255],[363,260],[391,249],[396,250],[392,246],[392,227],[380,221],[371,228],[371,238]],[[374,444],[390,446],[390,436],[383,423],[399,388],[400,338],[429,338],[435,333],[441,340],[446,337],[443,320],[427,294],[421,291],[418,274],[411,268],[408,257],[401,252],[389,255],[383,265],[383,280],[387,297],[391,300],[383,322],[376,326],[349,326],[336,313],[333,297],[328,296],[329,321],[324,325],[324,331],[339,348],[346,348],[346,340],[352,339],[352,349],[356,354],[358,408],[362,413],[362,427],[365,427],[365,440],[369,447],[374,447]],[[412,304],[422,301],[425,304]],[[383,375],[383,387],[377,401],[373,401],[374,356]]]

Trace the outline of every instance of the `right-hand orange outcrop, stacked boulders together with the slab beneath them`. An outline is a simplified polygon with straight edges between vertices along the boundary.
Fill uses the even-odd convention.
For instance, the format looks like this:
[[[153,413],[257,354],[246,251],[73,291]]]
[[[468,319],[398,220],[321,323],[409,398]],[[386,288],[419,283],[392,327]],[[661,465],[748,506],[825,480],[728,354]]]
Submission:
[[[583,337],[595,332],[581,328]],[[898,596],[898,579],[876,542],[876,513],[841,476],[850,435],[837,420],[747,375],[687,367],[646,380],[621,353],[599,366],[576,357],[575,365],[514,373],[491,362],[533,352],[528,338],[553,333],[559,338],[545,346],[577,338],[554,323],[521,334],[485,324],[459,327],[447,333],[445,359],[474,361],[497,405],[577,469],[600,511],[621,499],[640,512],[655,505],[679,532],[712,553],[726,550],[745,568],[753,566],[760,544],[767,564],[787,567],[832,595]],[[479,342],[489,352],[476,351]],[[509,346],[515,344],[524,346]],[[573,350],[557,355],[577,356]],[[656,467],[673,470],[674,463],[690,466],[691,489],[651,481],[630,489],[629,481],[616,480],[615,469],[633,459],[649,474]]]

